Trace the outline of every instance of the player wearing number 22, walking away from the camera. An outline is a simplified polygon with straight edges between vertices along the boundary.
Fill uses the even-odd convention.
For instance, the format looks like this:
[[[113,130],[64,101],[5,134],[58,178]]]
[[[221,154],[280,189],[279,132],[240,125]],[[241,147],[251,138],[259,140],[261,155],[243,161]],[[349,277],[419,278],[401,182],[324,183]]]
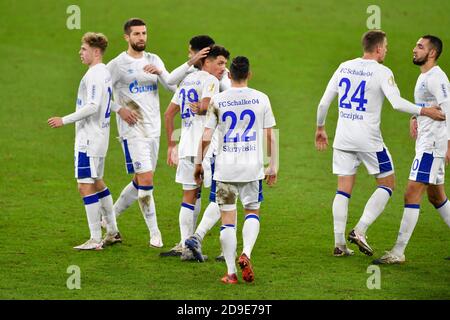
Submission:
[[[215,95],[210,102],[206,127],[196,157],[195,179],[197,183],[201,183],[203,156],[214,130],[218,130],[219,147],[214,180],[217,182],[216,201],[222,216],[220,242],[227,264],[227,273],[221,281],[236,284],[237,198],[241,199],[245,210],[243,251],[238,264],[244,281],[253,282],[254,272],[250,258],[259,233],[262,180],[266,176],[267,183],[274,184],[277,166],[272,132],[275,118],[269,98],[260,91],[248,88],[250,63],[246,57],[234,58],[230,70],[231,89]],[[263,159],[265,136],[271,142],[270,164],[266,172]]]

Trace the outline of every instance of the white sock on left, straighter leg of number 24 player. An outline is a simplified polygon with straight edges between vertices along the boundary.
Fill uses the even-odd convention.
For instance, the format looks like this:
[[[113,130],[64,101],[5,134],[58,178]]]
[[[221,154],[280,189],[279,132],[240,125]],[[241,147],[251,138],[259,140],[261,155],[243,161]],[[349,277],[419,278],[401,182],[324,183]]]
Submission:
[[[343,191],[337,191],[333,201],[334,245],[346,246],[345,226],[347,224],[348,202],[350,195]]]

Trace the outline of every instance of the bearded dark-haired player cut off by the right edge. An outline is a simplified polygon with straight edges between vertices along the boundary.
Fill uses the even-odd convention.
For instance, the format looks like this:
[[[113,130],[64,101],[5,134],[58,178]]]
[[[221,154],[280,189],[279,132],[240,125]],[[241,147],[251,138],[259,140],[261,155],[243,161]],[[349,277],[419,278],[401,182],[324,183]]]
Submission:
[[[405,249],[419,219],[420,202],[427,191],[428,200],[450,227],[450,203],[445,194],[445,165],[450,161],[450,92],[447,75],[437,65],[442,41],[426,35],[413,49],[413,63],[421,74],[414,90],[416,105],[422,109],[439,105],[446,114],[446,123],[423,116],[413,116],[411,135],[416,140],[416,156],[411,166],[405,192],[405,207],[397,242],[376,264],[405,262]]]

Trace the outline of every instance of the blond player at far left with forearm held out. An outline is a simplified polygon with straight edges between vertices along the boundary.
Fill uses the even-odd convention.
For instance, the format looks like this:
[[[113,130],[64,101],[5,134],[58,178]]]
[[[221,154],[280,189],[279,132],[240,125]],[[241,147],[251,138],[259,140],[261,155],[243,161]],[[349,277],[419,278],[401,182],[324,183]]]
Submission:
[[[52,128],[75,123],[75,177],[83,198],[91,237],[79,250],[100,250],[103,245],[121,242],[113,200],[103,181],[105,157],[108,151],[111,115],[111,75],[102,63],[108,46],[101,33],[88,32],[82,38],[80,58],[89,70],[78,88],[76,111],[65,117],[52,117]],[[100,219],[102,211],[107,234],[102,241]]]

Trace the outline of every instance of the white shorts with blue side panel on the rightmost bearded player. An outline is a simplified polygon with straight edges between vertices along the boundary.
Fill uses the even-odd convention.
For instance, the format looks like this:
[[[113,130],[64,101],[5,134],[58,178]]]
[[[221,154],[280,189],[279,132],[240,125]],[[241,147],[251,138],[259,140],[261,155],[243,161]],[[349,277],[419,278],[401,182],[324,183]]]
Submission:
[[[409,180],[425,184],[444,184],[445,158],[435,158],[431,152],[416,153],[411,165]]]

